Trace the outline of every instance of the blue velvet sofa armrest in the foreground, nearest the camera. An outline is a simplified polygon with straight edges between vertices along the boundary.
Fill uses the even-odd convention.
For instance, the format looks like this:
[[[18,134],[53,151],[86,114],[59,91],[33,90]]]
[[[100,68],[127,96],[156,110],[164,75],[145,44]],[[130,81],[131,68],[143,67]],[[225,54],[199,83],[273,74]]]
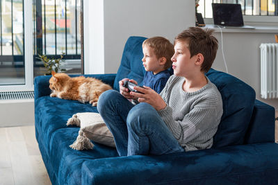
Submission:
[[[277,143],[256,143],[169,155],[93,159],[83,162],[81,179],[82,184],[217,184],[218,180],[254,184],[251,181],[263,174],[260,180],[268,184],[273,180],[268,179],[268,173],[274,175],[278,170],[277,152]]]

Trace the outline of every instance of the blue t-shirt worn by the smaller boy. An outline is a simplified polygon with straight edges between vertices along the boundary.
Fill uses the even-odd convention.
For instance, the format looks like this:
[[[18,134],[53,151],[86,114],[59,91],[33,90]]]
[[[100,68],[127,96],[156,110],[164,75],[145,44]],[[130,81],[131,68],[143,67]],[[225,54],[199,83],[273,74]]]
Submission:
[[[145,85],[147,87],[151,87],[152,89],[154,89],[154,91],[160,94],[170,76],[170,71],[167,69],[165,71],[157,73],[156,75],[154,75],[152,71],[146,71],[144,79],[140,83],[140,86]]]

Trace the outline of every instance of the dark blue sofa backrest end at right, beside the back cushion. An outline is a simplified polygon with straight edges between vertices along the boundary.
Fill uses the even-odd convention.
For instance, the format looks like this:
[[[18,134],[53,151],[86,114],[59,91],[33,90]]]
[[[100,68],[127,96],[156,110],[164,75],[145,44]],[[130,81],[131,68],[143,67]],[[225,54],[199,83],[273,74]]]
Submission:
[[[256,100],[245,143],[266,142],[275,142],[275,108]]]

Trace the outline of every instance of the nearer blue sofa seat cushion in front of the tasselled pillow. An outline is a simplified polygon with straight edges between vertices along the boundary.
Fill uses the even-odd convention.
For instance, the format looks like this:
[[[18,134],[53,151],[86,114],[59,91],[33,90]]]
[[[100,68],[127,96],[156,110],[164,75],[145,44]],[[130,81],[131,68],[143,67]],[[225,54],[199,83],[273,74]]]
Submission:
[[[81,166],[84,161],[118,156],[115,148],[93,141],[93,150],[73,150],[70,145],[78,132],[79,127],[67,127],[56,130],[51,136],[49,159],[58,184],[81,184]]]

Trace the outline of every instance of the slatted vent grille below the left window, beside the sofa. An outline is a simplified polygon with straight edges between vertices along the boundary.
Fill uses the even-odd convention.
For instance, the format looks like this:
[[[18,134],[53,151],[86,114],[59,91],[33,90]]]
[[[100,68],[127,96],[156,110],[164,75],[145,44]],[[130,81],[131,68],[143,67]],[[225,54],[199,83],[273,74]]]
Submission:
[[[34,91],[0,92],[0,100],[27,100],[34,98]]]

